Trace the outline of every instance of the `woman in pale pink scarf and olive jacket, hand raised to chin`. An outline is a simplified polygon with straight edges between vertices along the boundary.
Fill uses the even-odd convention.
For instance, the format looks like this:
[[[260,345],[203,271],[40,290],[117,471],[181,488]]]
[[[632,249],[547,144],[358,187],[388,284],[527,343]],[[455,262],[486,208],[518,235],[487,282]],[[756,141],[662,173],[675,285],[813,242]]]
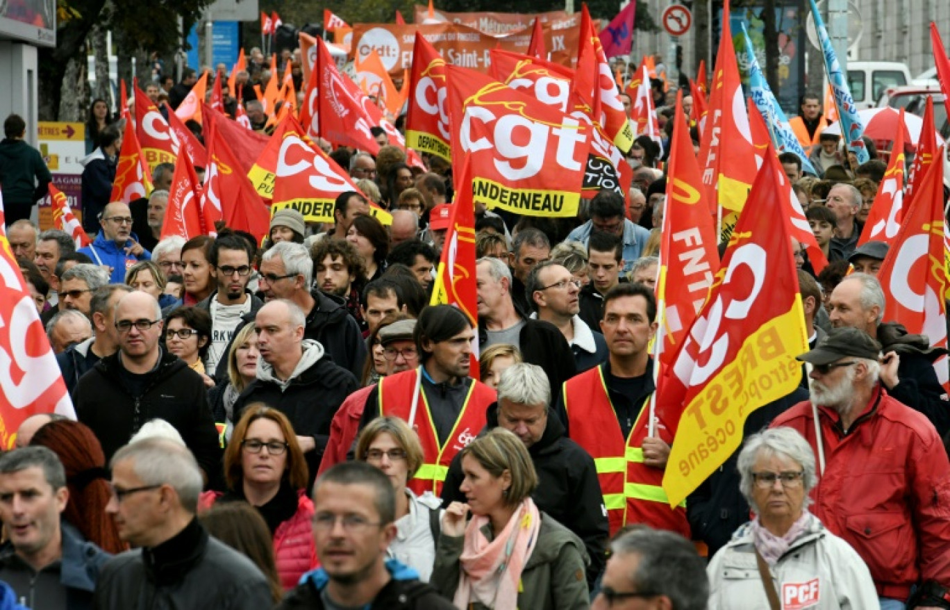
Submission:
[[[431,583],[460,610],[589,608],[583,543],[531,500],[538,475],[522,441],[496,428],[459,455],[468,502],[443,516]]]

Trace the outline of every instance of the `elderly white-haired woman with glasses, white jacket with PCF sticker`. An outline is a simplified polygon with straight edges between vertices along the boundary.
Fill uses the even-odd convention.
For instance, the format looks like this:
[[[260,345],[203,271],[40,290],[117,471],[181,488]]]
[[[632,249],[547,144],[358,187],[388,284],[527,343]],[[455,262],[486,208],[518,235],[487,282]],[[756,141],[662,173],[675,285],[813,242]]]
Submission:
[[[738,468],[755,518],[707,568],[710,610],[879,606],[858,553],[806,509],[817,477],[814,453],[801,434],[774,428],[750,436]]]

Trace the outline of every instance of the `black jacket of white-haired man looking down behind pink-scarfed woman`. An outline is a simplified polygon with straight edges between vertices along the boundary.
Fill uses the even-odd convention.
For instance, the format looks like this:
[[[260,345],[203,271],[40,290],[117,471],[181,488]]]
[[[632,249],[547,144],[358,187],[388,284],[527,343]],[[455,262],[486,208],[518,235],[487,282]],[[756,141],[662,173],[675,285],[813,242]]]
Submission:
[[[498,403],[488,407],[485,420],[486,430],[498,427]],[[541,439],[528,448],[528,453],[538,472],[538,486],[531,498],[539,510],[554,517],[583,541],[591,558],[587,566],[587,585],[592,587],[607,562],[607,538],[610,536],[594,458],[564,435],[561,419],[553,410],[548,410],[547,426]],[[456,455],[442,487],[444,505],[466,501],[460,490],[463,478],[462,460]]]

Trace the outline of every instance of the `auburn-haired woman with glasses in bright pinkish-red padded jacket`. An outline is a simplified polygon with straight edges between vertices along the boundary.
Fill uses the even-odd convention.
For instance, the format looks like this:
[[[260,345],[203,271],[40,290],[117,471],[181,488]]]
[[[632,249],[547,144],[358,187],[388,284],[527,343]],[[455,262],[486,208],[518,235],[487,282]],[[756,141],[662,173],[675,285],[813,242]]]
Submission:
[[[307,497],[307,462],[287,417],[262,403],[249,406],[224,451],[227,493],[208,491],[199,509],[219,502],[247,502],[257,508],[274,537],[277,574],[293,589],[317,565]]]

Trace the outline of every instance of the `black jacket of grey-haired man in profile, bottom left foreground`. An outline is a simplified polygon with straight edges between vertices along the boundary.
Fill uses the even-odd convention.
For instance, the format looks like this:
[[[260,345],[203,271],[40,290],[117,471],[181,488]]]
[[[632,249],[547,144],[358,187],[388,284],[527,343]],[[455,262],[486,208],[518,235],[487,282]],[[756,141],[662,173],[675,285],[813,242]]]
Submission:
[[[154,549],[136,549],[105,563],[96,610],[260,610],[273,604],[267,579],[245,555],[192,521]]]

